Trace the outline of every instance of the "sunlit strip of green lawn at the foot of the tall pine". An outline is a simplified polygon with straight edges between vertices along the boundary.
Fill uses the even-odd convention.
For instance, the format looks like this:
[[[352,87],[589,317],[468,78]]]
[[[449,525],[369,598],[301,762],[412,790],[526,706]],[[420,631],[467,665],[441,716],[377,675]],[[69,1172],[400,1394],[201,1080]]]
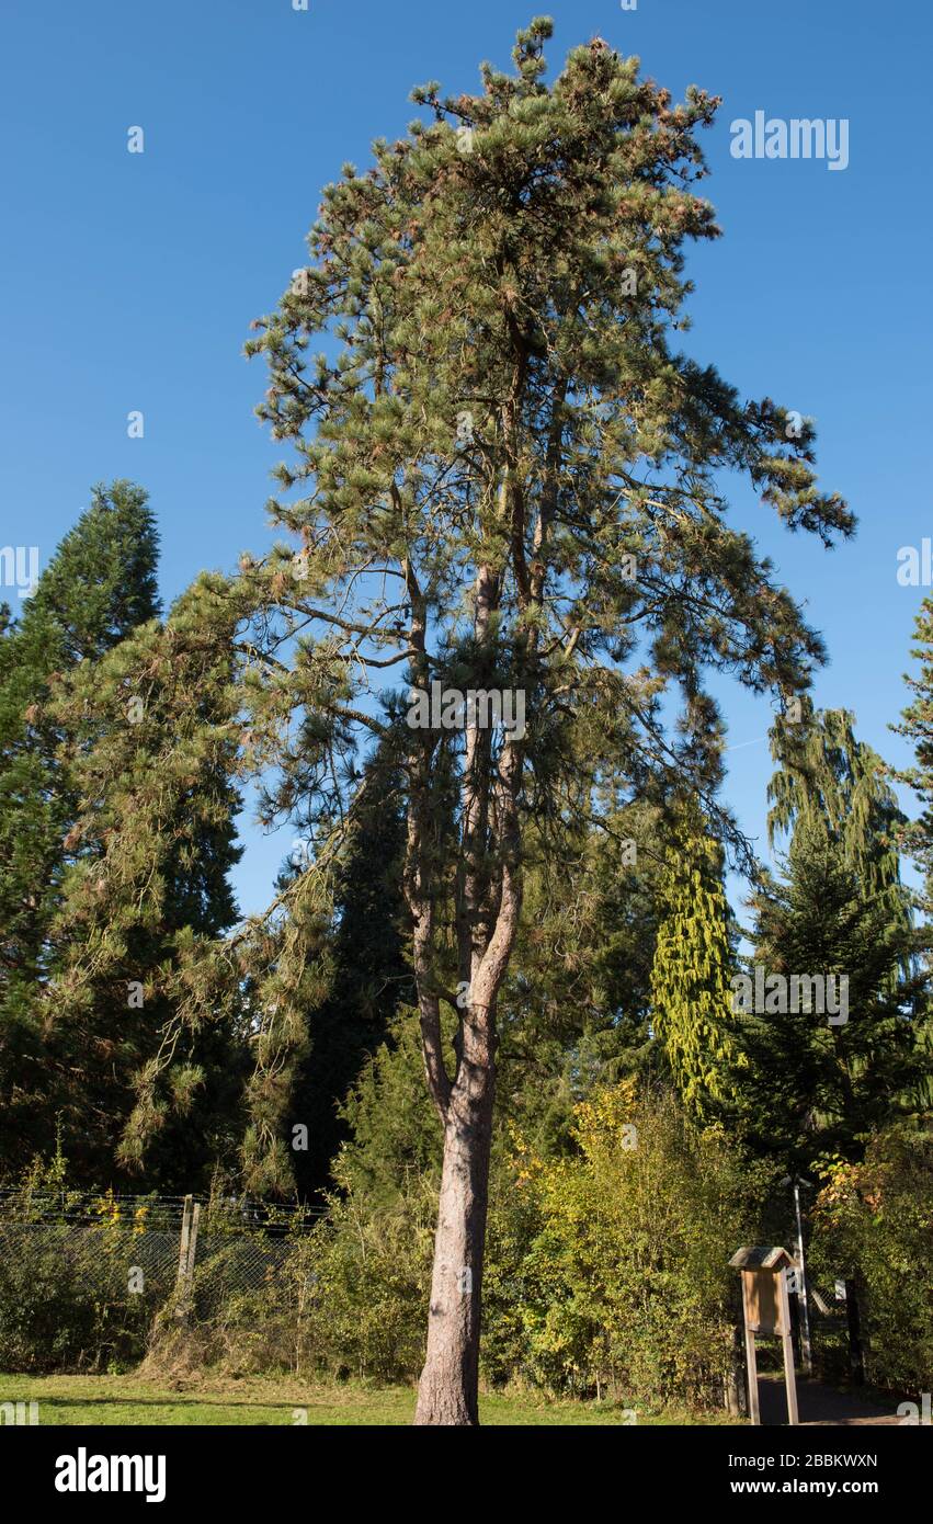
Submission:
[[[174,1385],[139,1376],[0,1376],[0,1402],[38,1402],[40,1423],[262,1423],[294,1425],[407,1425],[415,1414],[415,1391],[409,1387],[309,1385],[294,1378],[281,1381],[178,1381]],[[489,1425],[619,1423],[630,1417],[620,1407],[598,1402],[543,1402],[529,1396],[492,1394],[480,1401],[482,1422]],[[639,1423],[697,1423],[683,1413],[637,1413]],[[730,1422],[726,1414],[712,1419]]]

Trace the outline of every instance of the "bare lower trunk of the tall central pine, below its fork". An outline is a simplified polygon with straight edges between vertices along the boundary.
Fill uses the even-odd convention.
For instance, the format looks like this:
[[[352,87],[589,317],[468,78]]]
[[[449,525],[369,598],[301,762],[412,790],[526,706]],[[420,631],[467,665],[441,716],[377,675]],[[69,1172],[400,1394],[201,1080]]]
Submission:
[[[465,1036],[470,1044],[470,1027]],[[427,1356],[418,1382],[416,1425],[479,1423],[480,1294],[494,1090],[495,1067],[488,1050],[479,1062],[460,1064],[444,1122]]]

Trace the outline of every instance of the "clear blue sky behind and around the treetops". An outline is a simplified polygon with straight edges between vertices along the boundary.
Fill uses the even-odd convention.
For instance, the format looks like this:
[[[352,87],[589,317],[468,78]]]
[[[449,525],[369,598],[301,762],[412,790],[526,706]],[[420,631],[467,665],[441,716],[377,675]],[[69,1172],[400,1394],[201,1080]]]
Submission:
[[[262,549],[279,447],[252,415],[265,375],[241,358],[250,320],[303,261],[322,186],[416,114],[410,87],[473,88],[538,11],[556,23],[553,67],[601,35],[675,96],[723,96],[703,189],[724,236],[691,256],[686,344],[816,418],[822,482],[855,507],[857,541],[828,555],[762,509],[750,523],[744,492],[736,521],[825,634],[817,704],[854,709],[864,739],[906,759],[886,727],[924,590],[898,585],[896,552],[933,535],[927,0],[6,0],[0,544],[38,543],[44,564],[90,485],[127,475],[159,517],[166,599]],[[848,169],[732,158],[729,123],[756,110],[848,119]],[[762,838],[770,710],[718,692],[727,796]],[[287,846],[252,841],[247,910]]]

